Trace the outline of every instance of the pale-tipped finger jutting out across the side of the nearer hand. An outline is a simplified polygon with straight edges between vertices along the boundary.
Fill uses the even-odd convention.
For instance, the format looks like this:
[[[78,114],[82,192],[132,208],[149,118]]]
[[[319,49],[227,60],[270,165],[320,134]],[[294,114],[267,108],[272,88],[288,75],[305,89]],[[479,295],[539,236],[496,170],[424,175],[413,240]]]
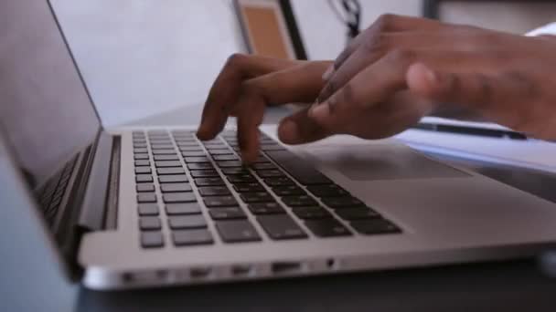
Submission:
[[[535,99],[539,92],[534,81],[519,73],[449,72],[422,63],[408,69],[406,80],[412,91],[436,103],[457,104],[507,125],[518,122],[519,115],[508,105]]]

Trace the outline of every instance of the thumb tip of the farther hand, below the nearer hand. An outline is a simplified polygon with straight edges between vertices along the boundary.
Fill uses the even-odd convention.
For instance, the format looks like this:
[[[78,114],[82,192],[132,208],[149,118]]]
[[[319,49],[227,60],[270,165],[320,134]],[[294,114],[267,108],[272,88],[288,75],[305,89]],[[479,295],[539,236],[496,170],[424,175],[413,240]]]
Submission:
[[[280,121],[278,138],[286,144],[304,144],[330,135],[315,120],[309,118],[308,108],[301,109]]]

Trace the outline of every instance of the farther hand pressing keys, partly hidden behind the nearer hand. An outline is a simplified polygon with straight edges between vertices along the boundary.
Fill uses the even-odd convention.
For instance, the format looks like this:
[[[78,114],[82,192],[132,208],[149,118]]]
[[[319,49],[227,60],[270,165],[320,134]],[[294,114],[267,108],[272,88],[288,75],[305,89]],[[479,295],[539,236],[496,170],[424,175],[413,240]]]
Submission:
[[[237,117],[238,141],[243,161],[259,154],[259,130],[269,104],[313,103],[325,82],[321,78],[332,62],[289,61],[233,55],[209,91],[198,129],[200,140],[214,138],[229,116]],[[318,140],[327,134],[302,109],[284,119],[278,135],[286,143]],[[294,125],[294,128],[292,128]]]

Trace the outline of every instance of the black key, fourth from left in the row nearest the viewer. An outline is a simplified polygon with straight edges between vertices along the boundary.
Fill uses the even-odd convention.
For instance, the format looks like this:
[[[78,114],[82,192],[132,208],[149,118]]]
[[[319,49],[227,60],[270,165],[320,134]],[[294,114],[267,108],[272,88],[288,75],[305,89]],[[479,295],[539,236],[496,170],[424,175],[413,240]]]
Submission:
[[[257,217],[257,221],[264,232],[275,240],[307,237],[301,227],[287,214],[261,215]]]

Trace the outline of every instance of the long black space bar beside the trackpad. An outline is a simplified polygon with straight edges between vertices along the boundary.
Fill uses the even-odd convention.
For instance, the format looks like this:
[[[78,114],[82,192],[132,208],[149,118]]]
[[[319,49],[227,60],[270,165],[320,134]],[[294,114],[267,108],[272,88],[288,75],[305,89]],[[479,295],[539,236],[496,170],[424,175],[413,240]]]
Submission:
[[[317,172],[308,161],[297,157],[291,151],[265,151],[268,157],[276,161],[283,170],[290,173],[297,182],[304,185],[329,184],[330,179],[321,172]]]

